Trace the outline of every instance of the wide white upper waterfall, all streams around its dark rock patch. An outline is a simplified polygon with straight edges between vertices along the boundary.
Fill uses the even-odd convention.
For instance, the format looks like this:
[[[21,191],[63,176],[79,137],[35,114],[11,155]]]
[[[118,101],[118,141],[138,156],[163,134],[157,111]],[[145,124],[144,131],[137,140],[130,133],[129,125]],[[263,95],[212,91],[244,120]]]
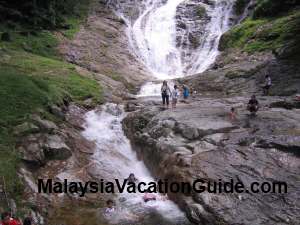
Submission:
[[[198,2],[199,6],[205,7],[210,20],[204,34],[198,37],[201,45],[189,54],[182,54],[183,46],[176,43],[177,8],[187,0],[144,0],[139,4],[141,13],[133,22],[122,14],[122,10],[117,13],[129,25],[128,37],[137,57],[156,79],[173,79],[204,72],[214,63],[219,54],[220,37],[229,28],[234,1]],[[158,84],[146,84],[141,89],[141,96],[158,95],[159,88]]]

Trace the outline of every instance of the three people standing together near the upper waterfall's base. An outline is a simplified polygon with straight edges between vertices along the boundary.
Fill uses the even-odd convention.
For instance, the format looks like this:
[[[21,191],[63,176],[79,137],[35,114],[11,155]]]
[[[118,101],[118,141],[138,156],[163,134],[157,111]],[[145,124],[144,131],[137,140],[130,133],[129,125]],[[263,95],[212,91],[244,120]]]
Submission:
[[[189,89],[187,86],[183,85],[183,98],[187,99],[189,97]],[[163,106],[169,108],[170,98],[172,99],[172,108],[176,108],[177,101],[179,98],[179,88],[175,84],[173,87],[173,90],[170,89],[167,81],[163,81],[163,84],[161,86],[161,97]]]

